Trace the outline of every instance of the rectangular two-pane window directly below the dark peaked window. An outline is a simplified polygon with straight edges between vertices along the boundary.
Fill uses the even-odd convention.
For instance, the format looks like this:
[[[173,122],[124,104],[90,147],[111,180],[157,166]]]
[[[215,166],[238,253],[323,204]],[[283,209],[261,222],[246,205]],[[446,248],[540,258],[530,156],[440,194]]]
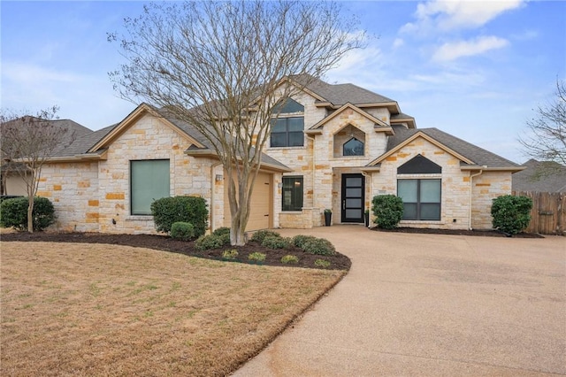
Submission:
[[[397,180],[403,219],[440,220],[440,180]]]

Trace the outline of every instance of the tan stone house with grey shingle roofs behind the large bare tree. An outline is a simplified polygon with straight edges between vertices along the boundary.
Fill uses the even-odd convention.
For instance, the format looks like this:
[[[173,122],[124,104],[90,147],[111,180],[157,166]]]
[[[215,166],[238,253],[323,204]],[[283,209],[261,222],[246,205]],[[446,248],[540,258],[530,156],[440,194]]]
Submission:
[[[363,223],[379,194],[402,196],[403,227],[491,228],[492,199],[510,194],[511,174],[522,169],[417,128],[386,96],[311,81],[274,119],[247,229],[318,227],[325,209],[334,224]],[[203,196],[213,230],[230,224],[225,179],[203,135],[141,104],[51,158],[39,195],[55,204],[57,229],[108,233],[153,233],[153,199]]]

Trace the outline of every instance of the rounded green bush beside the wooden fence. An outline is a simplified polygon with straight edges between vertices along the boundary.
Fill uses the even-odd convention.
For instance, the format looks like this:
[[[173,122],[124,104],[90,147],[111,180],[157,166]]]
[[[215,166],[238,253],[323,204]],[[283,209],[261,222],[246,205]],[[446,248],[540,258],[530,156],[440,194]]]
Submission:
[[[531,222],[532,199],[527,196],[504,195],[493,199],[493,227],[509,235],[520,233]]]

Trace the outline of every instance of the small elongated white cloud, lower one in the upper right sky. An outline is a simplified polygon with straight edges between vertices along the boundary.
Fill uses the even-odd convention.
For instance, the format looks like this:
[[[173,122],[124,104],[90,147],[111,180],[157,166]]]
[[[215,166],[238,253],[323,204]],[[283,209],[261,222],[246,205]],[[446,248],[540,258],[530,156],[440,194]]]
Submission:
[[[471,41],[444,43],[432,56],[435,61],[450,61],[457,58],[471,57],[483,54],[489,50],[501,49],[509,41],[497,36],[481,36]]]

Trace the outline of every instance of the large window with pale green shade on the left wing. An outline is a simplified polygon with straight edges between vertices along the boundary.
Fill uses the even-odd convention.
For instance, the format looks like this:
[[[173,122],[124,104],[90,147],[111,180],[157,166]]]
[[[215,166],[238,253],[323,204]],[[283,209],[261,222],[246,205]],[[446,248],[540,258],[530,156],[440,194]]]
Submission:
[[[155,199],[170,196],[169,160],[130,161],[130,212],[150,215]]]

